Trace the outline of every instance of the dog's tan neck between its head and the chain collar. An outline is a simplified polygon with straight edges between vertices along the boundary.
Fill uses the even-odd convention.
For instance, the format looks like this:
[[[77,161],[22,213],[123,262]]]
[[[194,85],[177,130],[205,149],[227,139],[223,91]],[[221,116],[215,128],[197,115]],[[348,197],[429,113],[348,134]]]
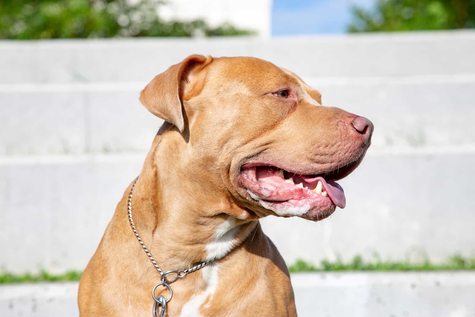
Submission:
[[[185,149],[167,140],[173,134],[155,137],[133,192],[133,201],[141,202],[133,204],[135,226],[164,271],[220,259],[258,225],[218,187],[196,192],[194,167],[180,159]]]

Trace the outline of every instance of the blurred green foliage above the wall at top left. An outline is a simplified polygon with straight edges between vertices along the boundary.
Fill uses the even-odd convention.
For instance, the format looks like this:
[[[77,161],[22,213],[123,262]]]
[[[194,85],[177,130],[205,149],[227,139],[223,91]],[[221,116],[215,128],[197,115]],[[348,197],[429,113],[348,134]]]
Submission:
[[[0,0],[0,39],[254,34],[228,24],[210,28],[201,19],[163,21],[158,15],[162,3],[158,0],[139,0],[135,4],[127,0]]]

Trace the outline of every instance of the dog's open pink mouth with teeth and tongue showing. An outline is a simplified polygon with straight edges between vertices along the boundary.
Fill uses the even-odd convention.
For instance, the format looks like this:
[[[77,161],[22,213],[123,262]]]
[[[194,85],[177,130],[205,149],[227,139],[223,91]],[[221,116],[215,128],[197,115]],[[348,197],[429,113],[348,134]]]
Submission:
[[[332,214],[335,206],[345,207],[343,188],[330,179],[340,179],[351,169],[348,166],[334,173],[298,175],[269,165],[243,166],[241,182],[264,208],[279,215],[314,220]]]

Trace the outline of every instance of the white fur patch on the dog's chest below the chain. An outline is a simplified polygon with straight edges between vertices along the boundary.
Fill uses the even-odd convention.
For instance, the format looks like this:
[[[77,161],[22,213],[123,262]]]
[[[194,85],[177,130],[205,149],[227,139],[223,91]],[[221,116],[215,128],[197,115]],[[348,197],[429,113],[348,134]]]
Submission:
[[[201,317],[199,314],[199,308],[209,298],[208,304],[213,298],[213,294],[218,286],[218,264],[211,263],[201,269],[203,279],[207,282],[207,288],[196,295],[193,295],[189,301],[187,301],[181,308],[181,317]],[[208,307],[208,305],[206,306]]]

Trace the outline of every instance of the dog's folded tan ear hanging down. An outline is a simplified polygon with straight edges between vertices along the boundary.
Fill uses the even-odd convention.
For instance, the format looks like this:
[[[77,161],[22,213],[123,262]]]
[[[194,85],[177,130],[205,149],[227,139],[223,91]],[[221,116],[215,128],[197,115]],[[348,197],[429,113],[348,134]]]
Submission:
[[[211,56],[190,55],[181,63],[172,65],[156,75],[140,93],[140,102],[157,117],[175,125],[180,132],[185,129],[182,98],[190,98],[194,86],[193,74],[199,72],[212,60]],[[196,92],[196,93],[199,93]]]

